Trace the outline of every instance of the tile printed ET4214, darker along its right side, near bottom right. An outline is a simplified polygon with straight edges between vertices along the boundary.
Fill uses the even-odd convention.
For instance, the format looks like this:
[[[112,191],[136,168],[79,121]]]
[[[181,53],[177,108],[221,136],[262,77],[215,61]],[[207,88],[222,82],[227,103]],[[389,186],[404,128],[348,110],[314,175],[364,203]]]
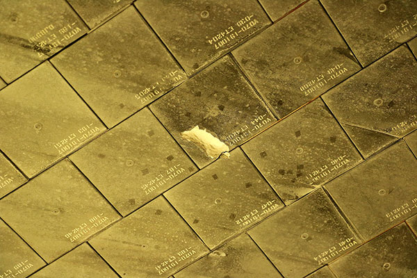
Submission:
[[[286,278],[304,277],[360,243],[321,188],[249,234]]]

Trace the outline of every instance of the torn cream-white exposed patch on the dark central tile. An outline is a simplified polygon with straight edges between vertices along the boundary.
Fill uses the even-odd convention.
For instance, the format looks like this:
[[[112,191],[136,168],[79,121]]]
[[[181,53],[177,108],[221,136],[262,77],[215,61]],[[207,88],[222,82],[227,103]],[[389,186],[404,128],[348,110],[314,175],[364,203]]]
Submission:
[[[229,147],[207,132],[206,129],[199,129],[198,126],[195,126],[189,131],[183,131],[181,137],[200,147],[210,158],[218,158],[221,154],[222,158],[229,158],[230,156]]]

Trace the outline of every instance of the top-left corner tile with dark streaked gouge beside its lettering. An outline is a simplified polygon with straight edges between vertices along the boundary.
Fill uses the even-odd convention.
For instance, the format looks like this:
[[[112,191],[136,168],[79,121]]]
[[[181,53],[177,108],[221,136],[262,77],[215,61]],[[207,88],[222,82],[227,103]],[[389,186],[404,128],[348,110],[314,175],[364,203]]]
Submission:
[[[1,0],[0,6],[0,76],[7,83],[88,31],[64,0]]]

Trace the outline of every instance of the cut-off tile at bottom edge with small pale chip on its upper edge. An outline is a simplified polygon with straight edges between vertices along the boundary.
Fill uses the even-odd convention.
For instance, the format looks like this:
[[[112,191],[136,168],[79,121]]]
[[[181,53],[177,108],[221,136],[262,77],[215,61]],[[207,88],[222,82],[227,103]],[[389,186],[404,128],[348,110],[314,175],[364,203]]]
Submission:
[[[243,234],[181,270],[175,278],[281,278],[249,236]]]

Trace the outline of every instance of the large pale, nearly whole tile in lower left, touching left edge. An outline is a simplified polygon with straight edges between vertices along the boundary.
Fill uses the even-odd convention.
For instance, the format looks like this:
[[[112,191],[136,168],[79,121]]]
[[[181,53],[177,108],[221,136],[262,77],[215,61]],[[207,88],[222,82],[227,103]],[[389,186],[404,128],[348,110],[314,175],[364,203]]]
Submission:
[[[1,199],[0,216],[48,262],[120,218],[67,160]]]

